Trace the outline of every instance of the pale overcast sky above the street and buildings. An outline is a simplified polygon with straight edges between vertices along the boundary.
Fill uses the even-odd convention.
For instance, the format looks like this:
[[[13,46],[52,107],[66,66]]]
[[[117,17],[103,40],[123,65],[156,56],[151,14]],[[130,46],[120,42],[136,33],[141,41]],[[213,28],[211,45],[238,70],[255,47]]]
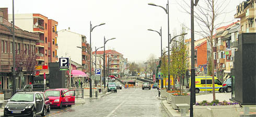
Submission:
[[[190,4],[190,0],[184,0]],[[201,0],[202,1],[202,0]],[[242,0],[230,0],[225,14],[225,22],[230,24],[236,13],[236,6]],[[190,27],[190,15],[184,13],[179,4],[182,0],[169,0],[170,33],[180,30],[180,25]],[[160,36],[147,29],[160,30],[162,27],[162,46],[167,45],[167,14],[160,7],[149,6],[155,3],[166,7],[167,0],[15,0],[15,14],[42,14],[59,22],[57,30],[71,28],[71,31],[84,34],[89,42],[90,21],[92,26],[103,23],[92,31],[92,49],[103,46],[104,36],[110,40],[106,49],[114,49],[128,61],[144,62],[150,54],[160,56]],[[199,1],[200,4],[200,1]],[[0,7],[8,7],[12,14],[12,1],[1,0]],[[189,7],[188,7],[189,9]],[[196,30],[196,29],[195,29]],[[190,38],[190,31],[187,38]],[[200,36],[195,36],[195,40]]]

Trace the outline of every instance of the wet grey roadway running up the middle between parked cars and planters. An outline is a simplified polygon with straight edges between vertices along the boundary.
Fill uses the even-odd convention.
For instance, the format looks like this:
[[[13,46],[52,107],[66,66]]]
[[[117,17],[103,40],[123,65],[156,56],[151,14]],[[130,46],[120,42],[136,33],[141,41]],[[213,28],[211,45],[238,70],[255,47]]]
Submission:
[[[118,90],[100,99],[85,99],[86,103],[50,116],[168,116],[156,98],[157,89],[130,88]],[[49,116],[48,115],[48,116]]]

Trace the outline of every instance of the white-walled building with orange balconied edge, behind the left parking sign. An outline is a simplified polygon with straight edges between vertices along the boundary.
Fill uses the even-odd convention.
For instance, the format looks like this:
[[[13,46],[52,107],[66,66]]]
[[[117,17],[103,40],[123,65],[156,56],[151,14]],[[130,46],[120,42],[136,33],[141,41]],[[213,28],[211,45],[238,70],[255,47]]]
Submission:
[[[58,31],[58,57],[69,57],[72,61],[83,66],[82,71],[88,73],[89,44],[86,36],[72,32],[70,28]],[[68,47],[68,48],[67,48]]]

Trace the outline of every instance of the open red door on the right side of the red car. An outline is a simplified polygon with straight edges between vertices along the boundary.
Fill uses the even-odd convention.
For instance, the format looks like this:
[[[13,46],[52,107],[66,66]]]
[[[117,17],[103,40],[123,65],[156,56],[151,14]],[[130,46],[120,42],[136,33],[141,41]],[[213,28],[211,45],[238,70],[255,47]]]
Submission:
[[[75,104],[75,90],[69,90],[62,95],[62,105]]]

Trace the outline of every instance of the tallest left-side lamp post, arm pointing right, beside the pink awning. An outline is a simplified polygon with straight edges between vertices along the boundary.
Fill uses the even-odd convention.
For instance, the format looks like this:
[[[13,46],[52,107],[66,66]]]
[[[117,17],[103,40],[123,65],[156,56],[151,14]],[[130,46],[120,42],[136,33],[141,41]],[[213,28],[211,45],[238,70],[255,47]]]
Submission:
[[[98,27],[98,26],[101,26],[101,25],[104,25],[104,23],[92,27],[91,21],[90,21],[90,77],[89,77],[89,83],[90,83],[90,98],[92,98],[92,90],[91,90],[91,32],[92,32],[92,30],[94,30],[95,27]]]

